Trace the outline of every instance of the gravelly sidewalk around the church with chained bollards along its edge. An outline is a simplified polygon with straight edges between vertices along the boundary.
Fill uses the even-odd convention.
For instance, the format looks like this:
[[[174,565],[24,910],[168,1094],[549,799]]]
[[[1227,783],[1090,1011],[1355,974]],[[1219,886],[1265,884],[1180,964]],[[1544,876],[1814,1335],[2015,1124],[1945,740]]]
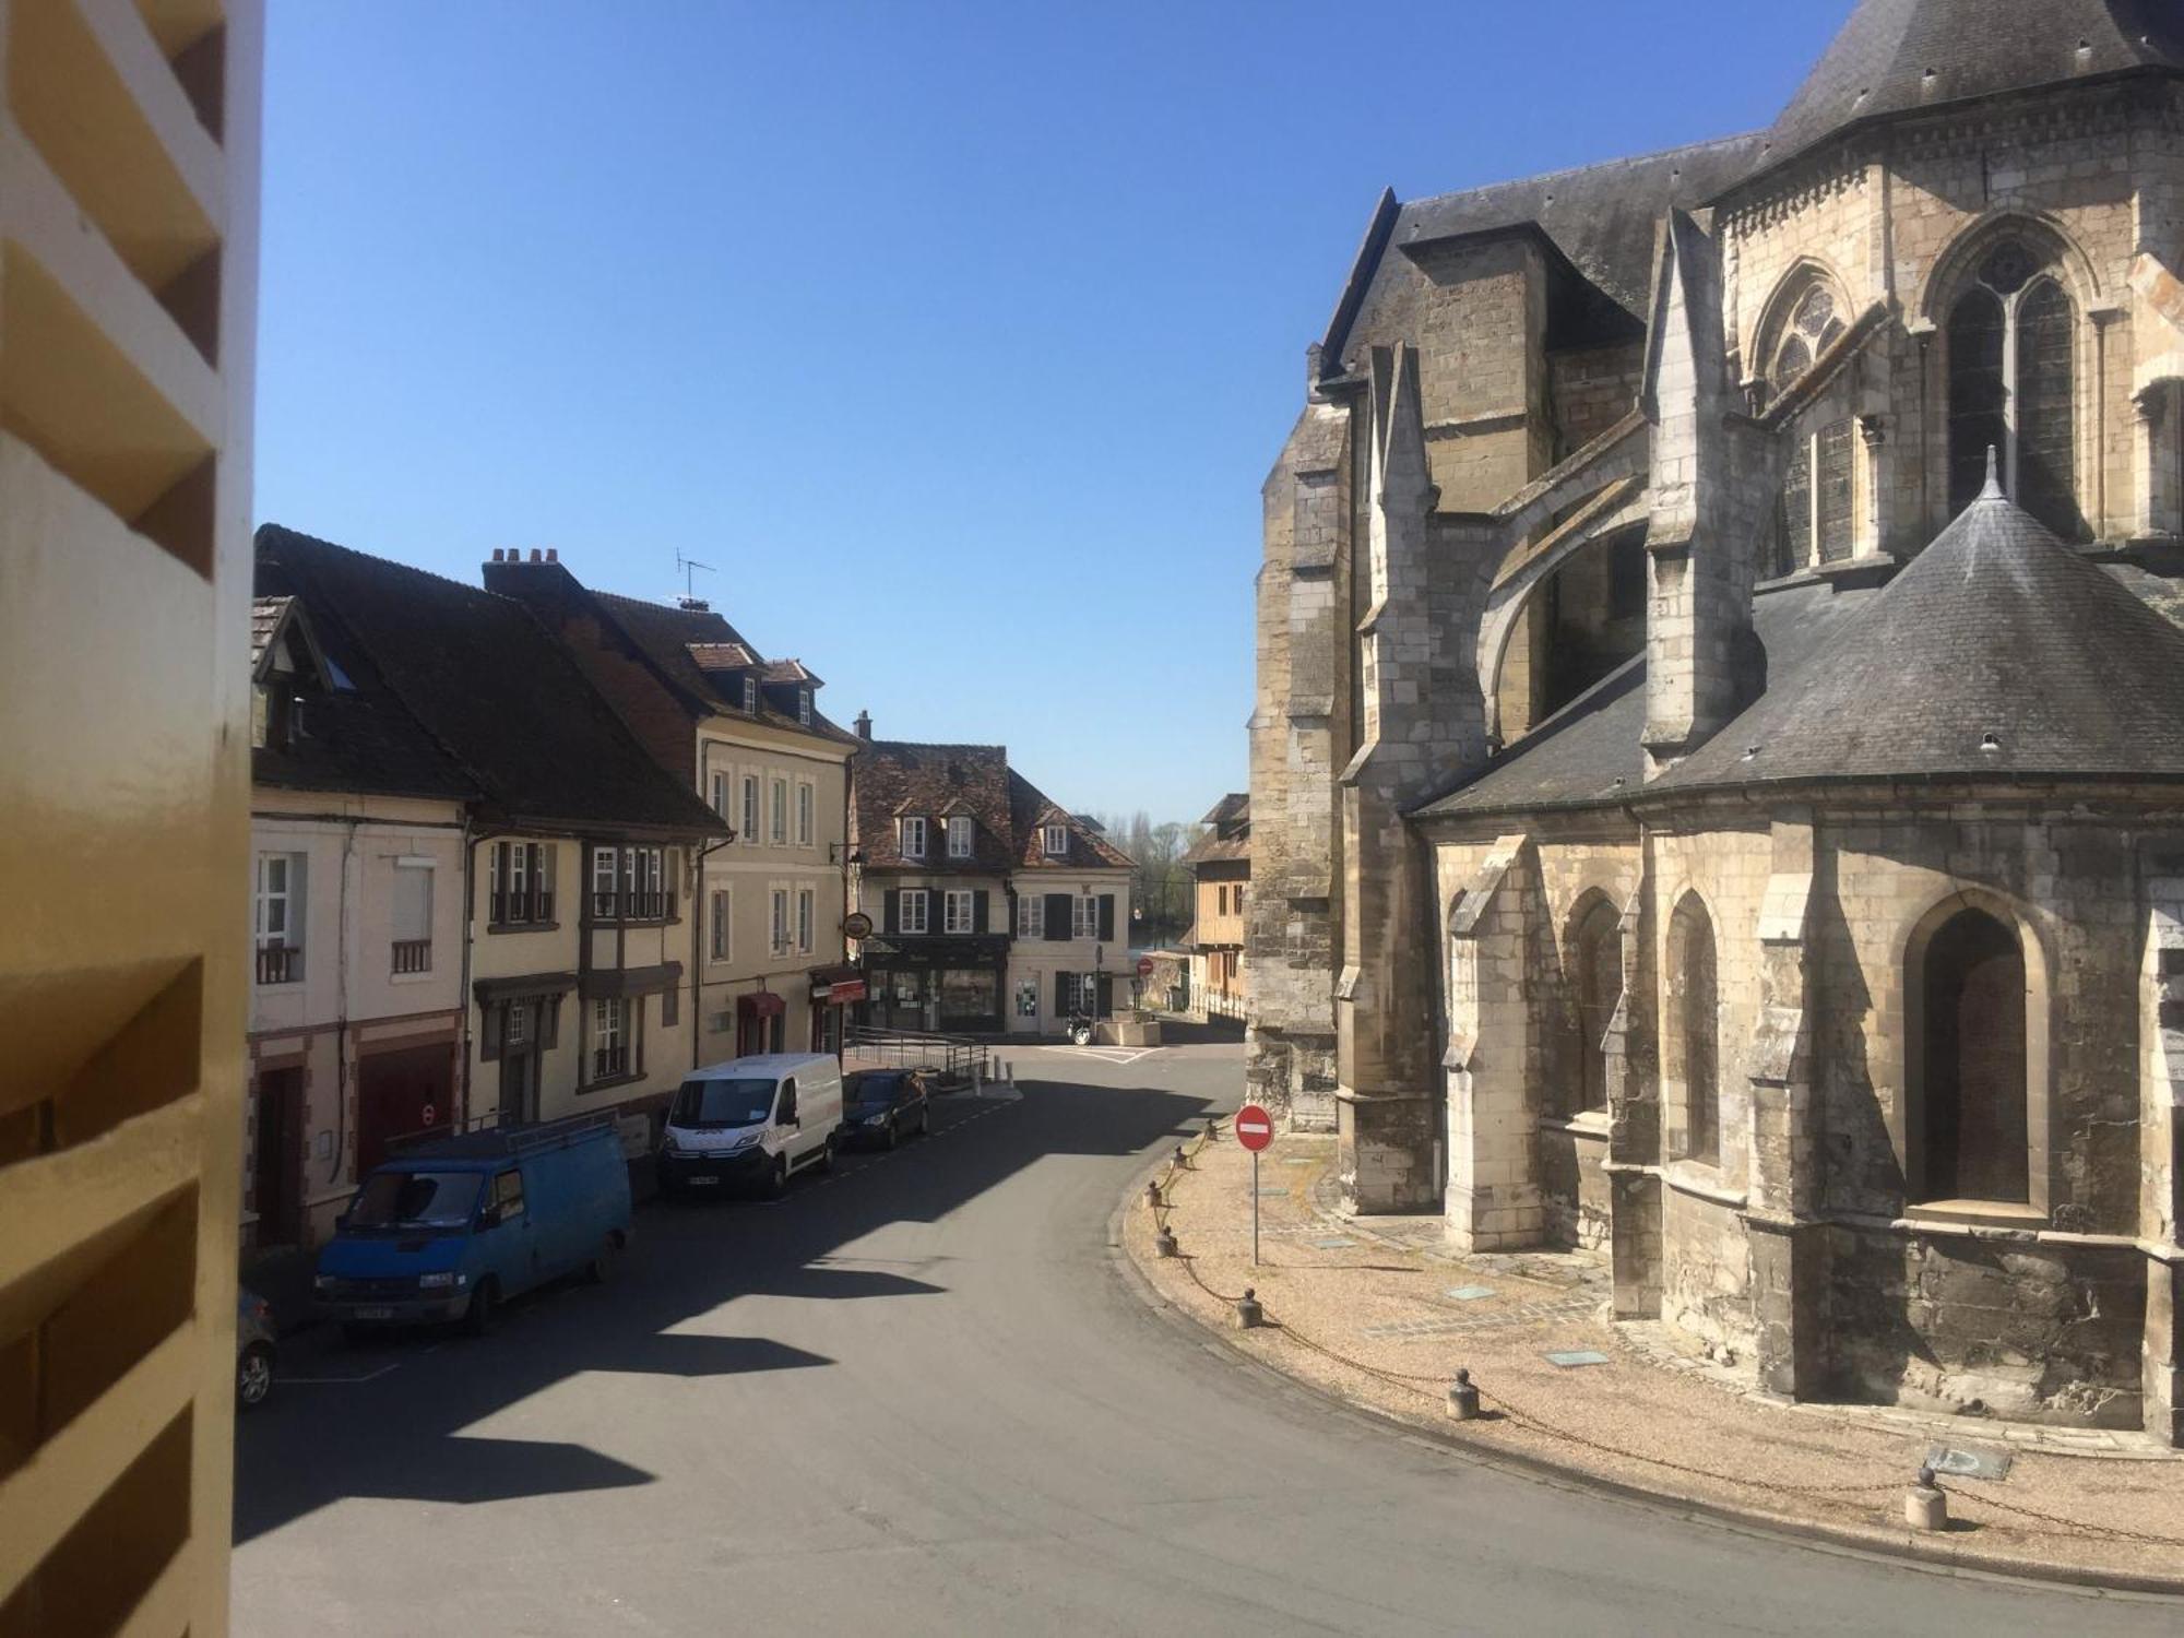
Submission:
[[[1332,1160],[1324,1136],[1260,1155],[1254,1269],[1251,1158],[1223,1129],[1166,1188],[1184,1256],[1155,1256],[1142,1186],[1125,1251],[1158,1297],[1251,1358],[1483,1455],[1839,1544],[2184,1594],[2184,1452],[2140,1435],[1773,1400],[1734,1363],[1688,1356],[1664,1326],[1612,1324],[1601,1258],[1457,1258],[1439,1219],[1337,1216]],[[1236,1330],[1247,1286],[1260,1330]],[[1448,1415],[1457,1367],[1481,1389],[1476,1422]],[[1913,1533],[1904,1492],[1935,1448],[2007,1474],[1944,1474],[1950,1529]]]

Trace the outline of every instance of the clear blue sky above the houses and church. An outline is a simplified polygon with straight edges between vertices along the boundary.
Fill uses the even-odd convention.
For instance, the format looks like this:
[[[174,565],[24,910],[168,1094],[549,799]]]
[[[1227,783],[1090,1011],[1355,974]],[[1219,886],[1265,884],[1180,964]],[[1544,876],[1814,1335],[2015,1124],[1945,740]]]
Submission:
[[[275,0],[258,515],[679,590],[1079,810],[1245,784],[1374,197],[1765,124],[1848,0]]]

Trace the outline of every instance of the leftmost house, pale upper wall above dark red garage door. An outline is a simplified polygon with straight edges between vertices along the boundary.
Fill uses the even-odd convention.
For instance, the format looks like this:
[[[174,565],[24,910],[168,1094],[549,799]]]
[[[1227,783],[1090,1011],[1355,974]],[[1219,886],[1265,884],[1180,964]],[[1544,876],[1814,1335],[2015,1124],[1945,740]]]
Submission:
[[[424,1114],[452,1120],[463,1083],[476,786],[339,620],[328,631],[332,649],[299,596],[256,601],[242,1125],[253,1249],[323,1241],[389,1140]]]

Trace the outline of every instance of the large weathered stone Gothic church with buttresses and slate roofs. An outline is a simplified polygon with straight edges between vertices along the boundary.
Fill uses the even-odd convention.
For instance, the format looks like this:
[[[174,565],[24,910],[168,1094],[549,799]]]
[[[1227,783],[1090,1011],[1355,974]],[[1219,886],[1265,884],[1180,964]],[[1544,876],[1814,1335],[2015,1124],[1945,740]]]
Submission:
[[[2184,7],[1382,197],[1265,487],[1249,1083],[1800,1398],[2184,1441]]]

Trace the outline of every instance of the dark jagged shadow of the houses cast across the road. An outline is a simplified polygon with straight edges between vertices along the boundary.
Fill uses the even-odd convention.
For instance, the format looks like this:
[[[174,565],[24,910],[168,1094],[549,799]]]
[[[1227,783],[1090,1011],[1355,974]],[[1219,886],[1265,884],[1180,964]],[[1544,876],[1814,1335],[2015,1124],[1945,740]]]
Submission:
[[[644,1485],[653,1474],[596,1450],[465,1435],[463,1428],[583,1372],[701,1378],[823,1369],[834,1361],[769,1337],[712,1334],[738,1297],[893,1302],[946,1291],[939,1260],[874,1267],[836,1258],[889,1223],[930,1223],[1051,1155],[1133,1155],[1192,1131],[1208,1099],[1166,1090],[1026,1081],[1005,1109],[950,1112],[976,1133],[913,1142],[834,1186],[817,1179],[764,1210],[649,1206],[607,1286],[548,1286],[491,1337],[391,1341],[349,1354],[330,1337],[317,1367],[367,1380],[275,1389],[236,1426],[234,1540],[249,1542],[349,1496],[487,1503]],[[321,1328],[321,1337],[328,1328]],[[411,1354],[428,1354],[411,1358]],[[400,1363],[404,1369],[382,1372]],[[644,1391],[631,1385],[629,1391]]]

